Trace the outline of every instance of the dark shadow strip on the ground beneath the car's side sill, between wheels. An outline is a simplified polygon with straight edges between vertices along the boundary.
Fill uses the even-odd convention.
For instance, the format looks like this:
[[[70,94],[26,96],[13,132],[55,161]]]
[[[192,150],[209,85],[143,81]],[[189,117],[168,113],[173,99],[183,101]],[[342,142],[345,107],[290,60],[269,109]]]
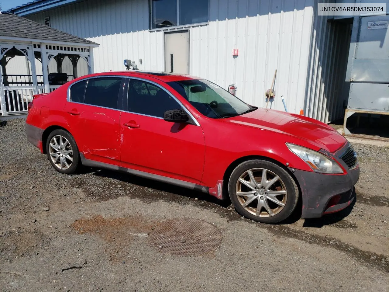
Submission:
[[[135,176],[132,174],[127,174],[127,173],[124,174],[121,172],[109,171],[106,169],[101,169],[101,170],[87,169],[84,171],[84,173],[91,173],[95,176],[112,178],[112,179],[122,181],[124,183],[130,183],[130,184],[133,184],[136,186],[143,186],[145,188],[152,188],[154,190],[159,190],[162,192],[167,192],[169,194],[172,194],[172,196],[169,196],[169,194],[168,194],[168,196],[166,196],[166,195],[161,196],[160,199],[172,199],[173,201],[180,202],[181,201],[180,198],[174,196],[174,195],[179,195],[179,196],[182,196],[182,199],[184,199],[184,198],[192,198],[192,199],[197,198],[197,199],[199,199],[199,201],[201,200],[201,201],[206,201],[209,203],[214,203],[214,204],[217,204],[223,208],[227,208],[228,206],[231,205],[230,198],[225,199],[225,200],[219,200],[214,196],[211,196],[209,194],[202,193],[202,192],[199,192],[196,190],[190,190],[187,188],[182,188],[180,186],[175,186],[175,185],[171,185],[168,183],[155,181],[152,179],[142,178],[142,177]],[[139,193],[139,196],[140,197],[142,196],[141,192]]]

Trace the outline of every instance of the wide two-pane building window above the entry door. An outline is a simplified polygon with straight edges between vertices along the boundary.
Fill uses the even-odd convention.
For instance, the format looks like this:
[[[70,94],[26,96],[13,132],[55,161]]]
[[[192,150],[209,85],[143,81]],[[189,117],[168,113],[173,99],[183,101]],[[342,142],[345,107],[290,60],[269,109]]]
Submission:
[[[207,22],[209,0],[151,0],[151,14],[151,28]]]

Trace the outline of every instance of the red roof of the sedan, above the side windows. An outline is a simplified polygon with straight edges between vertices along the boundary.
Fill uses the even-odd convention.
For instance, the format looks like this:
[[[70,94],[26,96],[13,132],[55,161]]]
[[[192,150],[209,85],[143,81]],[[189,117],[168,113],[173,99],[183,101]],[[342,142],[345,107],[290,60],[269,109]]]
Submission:
[[[88,77],[93,76],[101,76],[101,75],[125,75],[125,76],[132,76],[132,77],[153,77],[156,79],[159,79],[163,82],[170,82],[170,81],[180,81],[180,80],[190,80],[190,79],[201,79],[200,77],[191,76],[188,74],[177,74],[177,73],[168,73],[163,71],[110,71],[110,72],[102,72],[102,73],[96,73],[96,74],[90,74]],[[82,76],[86,77],[86,76]]]

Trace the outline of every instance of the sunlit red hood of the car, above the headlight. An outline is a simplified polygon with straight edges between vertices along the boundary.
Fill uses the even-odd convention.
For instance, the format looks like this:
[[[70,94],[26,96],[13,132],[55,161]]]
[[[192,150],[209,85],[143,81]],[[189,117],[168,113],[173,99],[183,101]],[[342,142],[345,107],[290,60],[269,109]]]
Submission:
[[[347,141],[331,126],[320,121],[273,109],[259,108],[251,113],[223,120],[302,139],[311,144],[312,149],[317,148],[314,149],[316,151],[323,148],[333,153]],[[287,138],[285,142],[288,142]]]

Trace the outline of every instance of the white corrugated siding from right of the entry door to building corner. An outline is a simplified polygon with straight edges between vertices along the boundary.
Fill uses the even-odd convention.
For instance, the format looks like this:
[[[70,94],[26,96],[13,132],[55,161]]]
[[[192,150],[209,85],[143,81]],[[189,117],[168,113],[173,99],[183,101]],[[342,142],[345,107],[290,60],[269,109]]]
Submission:
[[[276,99],[269,107],[298,113],[303,107],[313,19],[313,1],[211,0],[208,26],[190,30],[190,73],[237,96],[266,106],[275,69]],[[233,58],[232,49],[239,49]]]

